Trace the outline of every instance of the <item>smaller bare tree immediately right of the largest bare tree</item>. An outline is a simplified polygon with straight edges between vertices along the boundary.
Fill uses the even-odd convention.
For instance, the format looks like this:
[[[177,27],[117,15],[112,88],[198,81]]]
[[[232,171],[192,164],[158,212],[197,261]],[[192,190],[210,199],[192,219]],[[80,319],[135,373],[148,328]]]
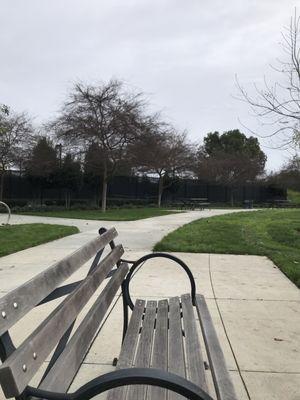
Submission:
[[[130,146],[133,166],[142,173],[158,176],[158,207],[161,206],[166,177],[174,177],[191,169],[192,150],[185,133],[159,122],[156,117],[145,121],[144,129]]]

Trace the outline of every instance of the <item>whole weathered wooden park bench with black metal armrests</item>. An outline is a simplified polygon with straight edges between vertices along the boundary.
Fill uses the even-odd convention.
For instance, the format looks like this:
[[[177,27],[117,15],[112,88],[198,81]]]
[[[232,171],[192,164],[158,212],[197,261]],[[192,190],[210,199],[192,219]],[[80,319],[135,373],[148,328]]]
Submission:
[[[75,253],[0,298],[0,383],[5,396],[22,400],[86,400],[109,390],[109,400],[160,400],[166,399],[168,391],[169,399],[235,400],[207,305],[204,297],[196,294],[195,281],[186,264],[165,253],[152,253],[136,262],[123,260],[123,247],[114,243],[116,230],[101,228],[99,233]],[[106,246],[107,255],[103,254]],[[178,263],[188,275],[191,292],[158,302],[140,299],[133,304],[131,277],[153,257]],[[83,280],[62,286],[91,258]],[[100,294],[93,296],[100,285]],[[68,393],[118,291],[122,293],[124,318],[116,370]],[[74,329],[79,313],[92,296],[95,301]],[[17,321],[34,307],[61,297],[59,305],[15,347],[9,330]],[[201,329],[197,329],[199,321],[194,311]],[[204,348],[200,347],[198,330],[202,332]],[[52,351],[41,382],[37,387],[31,386],[33,376]],[[208,374],[215,387],[215,393],[210,395]]]

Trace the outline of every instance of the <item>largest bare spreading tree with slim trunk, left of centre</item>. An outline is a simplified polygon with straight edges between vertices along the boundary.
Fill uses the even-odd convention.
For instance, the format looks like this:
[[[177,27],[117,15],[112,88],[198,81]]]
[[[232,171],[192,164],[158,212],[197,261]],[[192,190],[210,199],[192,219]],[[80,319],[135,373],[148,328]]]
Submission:
[[[141,121],[140,94],[128,93],[120,81],[99,86],[77,83],[54,127],[58,137],[86,151],[99,148],[102,162],[102,211],[106,211],[107,183],[126,155]]]

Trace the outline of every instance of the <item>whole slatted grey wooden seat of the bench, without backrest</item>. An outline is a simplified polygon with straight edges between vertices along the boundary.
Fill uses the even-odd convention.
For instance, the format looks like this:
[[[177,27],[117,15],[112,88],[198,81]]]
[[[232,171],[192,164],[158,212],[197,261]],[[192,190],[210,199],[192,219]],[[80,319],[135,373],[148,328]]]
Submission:
[[[139,333],[143,304],[142,300],[137,300],[132,318],[139,315],[139,323],[135,323],[133,335],[132,332],[130,334],[130,329],[127,331],[117,368],[122,368],[122,366],[123,368],[148,368],[151,366],[152,368],[167,370],[187,378],[201,387],[202,390],[208,392],[196,325],[198,321],[195,318],[191,295],[182,295],[181,299],[173,297],[169,299],[169,302],[168,300],[160,300],[157,309],[153,304],[151,318],[149,304],[151,302],[147,303],[142,329]],[[138,305],[140,305],[140,309],[138,309]],[[196,311],[200,319],[217,399],[237,400],[203,296],[197,295],[196,297]],[[156,319],[155,325],[153,325],[153,319]],[[134,359],[138,341],[138,350]],[[124,354],[126,354],[126,357],[124,357]],[[170,390],[141,385],[114,389],[109,392],[107,400],[144,400],[145,397],[147,400],[184,400],[184,397]]]

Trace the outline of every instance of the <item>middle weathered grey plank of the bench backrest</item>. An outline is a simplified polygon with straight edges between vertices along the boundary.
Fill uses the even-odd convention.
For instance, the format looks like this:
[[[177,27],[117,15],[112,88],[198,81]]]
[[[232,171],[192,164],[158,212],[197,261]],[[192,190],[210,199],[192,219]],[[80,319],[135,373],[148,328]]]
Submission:
[[[116,246],[2,364],[0,379],[6,397],[18,396],[23,392],[55,344],[72,324],[123,252],[122,246]],[[36,357],[33,356],[34,353]]]

